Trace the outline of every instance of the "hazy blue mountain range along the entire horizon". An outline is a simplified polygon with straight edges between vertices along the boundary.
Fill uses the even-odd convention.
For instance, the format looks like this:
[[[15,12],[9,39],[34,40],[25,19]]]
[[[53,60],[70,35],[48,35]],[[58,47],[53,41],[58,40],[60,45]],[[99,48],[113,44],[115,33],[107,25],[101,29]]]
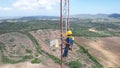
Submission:
[[[76,14],[71,15],[71,18],[77,19],[104,19],[104,18],[120,18],[120,14]],[[59,19],[59,16],[24,16],[24,17],[0,17],[2,19],[17,19],[17,20],[46,20],[46,19]]]

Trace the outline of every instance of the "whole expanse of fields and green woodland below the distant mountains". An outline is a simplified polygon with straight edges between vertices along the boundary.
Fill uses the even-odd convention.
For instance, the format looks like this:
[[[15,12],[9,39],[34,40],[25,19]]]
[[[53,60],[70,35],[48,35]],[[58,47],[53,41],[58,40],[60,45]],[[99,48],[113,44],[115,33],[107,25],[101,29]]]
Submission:
[[[120,21],[110,21],[71,19],[75,44],[63,59],[65,68],[71,68],[69,64],[80,68],[120,67]],[[51,40],[58,39],[61,44],[59,36],[58,19],[3,20],[0,68],[59,68],[60,46],[50,47]]]

